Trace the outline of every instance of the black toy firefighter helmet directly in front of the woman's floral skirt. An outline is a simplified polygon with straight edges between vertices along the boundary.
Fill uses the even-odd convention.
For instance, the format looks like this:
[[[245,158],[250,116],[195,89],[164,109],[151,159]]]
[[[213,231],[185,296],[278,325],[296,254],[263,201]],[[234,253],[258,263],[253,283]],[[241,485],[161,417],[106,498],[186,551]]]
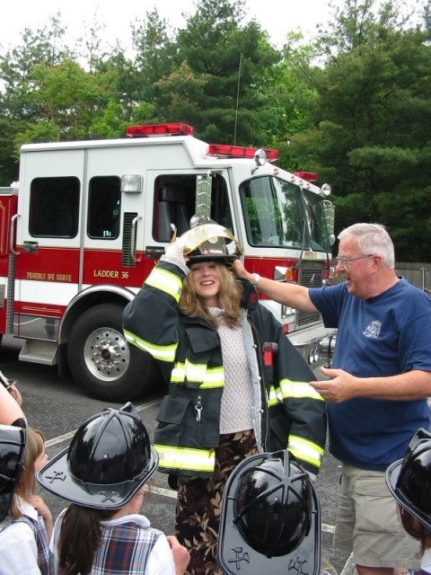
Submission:
[[[218,543],[227,573],[246,554],[250,573],[279,573],[286,556],[320,569],[320,506],[312,480],[286,450],[239,464],[226,483]],[[270,559],[270,561],[268,561]],[[249,568],[242,563],[242,571]],[[244,573],[245,575],[245,573]]]

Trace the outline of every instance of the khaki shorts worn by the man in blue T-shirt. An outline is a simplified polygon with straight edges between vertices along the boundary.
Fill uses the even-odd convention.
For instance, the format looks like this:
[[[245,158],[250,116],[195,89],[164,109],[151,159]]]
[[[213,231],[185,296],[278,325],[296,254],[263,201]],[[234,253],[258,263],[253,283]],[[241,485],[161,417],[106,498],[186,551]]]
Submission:
[[[400,523],[384,473],[343,464],[334,546],[356,565],[418,569],[418,541]]]

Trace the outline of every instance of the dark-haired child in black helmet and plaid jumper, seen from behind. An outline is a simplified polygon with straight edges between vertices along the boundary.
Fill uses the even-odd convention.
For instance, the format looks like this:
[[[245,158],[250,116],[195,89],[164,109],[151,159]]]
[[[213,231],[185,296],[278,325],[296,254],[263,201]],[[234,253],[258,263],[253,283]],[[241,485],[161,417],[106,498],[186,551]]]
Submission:
[[[85,421],[69,447],[38,473],[70,501],[51,539],[53,573],[182,575],[189,553],[139,514],[158,457],[131,403]]]

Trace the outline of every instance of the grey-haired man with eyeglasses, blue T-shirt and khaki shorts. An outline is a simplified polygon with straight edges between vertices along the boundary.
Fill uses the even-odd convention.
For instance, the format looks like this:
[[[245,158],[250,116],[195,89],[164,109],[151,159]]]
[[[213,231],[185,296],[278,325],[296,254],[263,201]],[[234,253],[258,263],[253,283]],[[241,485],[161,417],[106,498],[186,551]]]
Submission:
[[[325,381],[310,382],[327,402],[330,453],[342,463],[334,545],[353,552],[359,575],[396,575],[419,566],[418,544],[400,526],[384,474],[428,428],[431,396],[431,300],[395,274],[384,226],[355,224],[339,234],[337,286],[304,288],[239,277],[338,328]]]

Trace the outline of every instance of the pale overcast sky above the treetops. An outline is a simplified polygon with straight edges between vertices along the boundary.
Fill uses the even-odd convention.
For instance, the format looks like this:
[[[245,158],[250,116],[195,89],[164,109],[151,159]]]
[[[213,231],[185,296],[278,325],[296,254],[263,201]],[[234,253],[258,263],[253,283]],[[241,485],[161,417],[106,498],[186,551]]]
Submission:
[[[335,0],[343,4],[342,0]],[[328,0],[246,0],[247,13],[255,17],[277,48],[281,48],[288,31],[301,30],[307,36],[315,31],[317,23],[327,22],[330,15]],[[105,36],[120,40],[128,47],[130,22],[143,19],[147,11],[157,7],[161,17],[180,28],[184,24],[181,13],[194,13],[194,0],[13,0],[7,2],[0,17],[0,45],[3,49],[20,43],[25,27],[36,31],[48,22],[50,16],[61,13],[67,27],[68,38],[84,33],[84,26],[97,21],[105,25]]]

